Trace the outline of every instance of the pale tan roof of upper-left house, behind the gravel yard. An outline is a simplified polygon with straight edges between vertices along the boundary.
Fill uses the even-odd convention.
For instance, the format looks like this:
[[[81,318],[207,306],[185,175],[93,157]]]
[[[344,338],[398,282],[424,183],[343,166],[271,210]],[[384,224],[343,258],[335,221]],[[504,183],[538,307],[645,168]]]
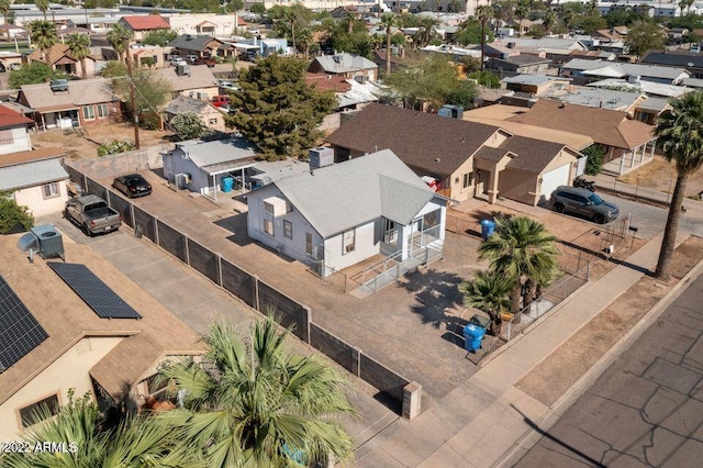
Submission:
[[[49,83],[23,85],[20,99],[40,112],[75,109],[80,105],[119,101],[112,88],[112,80],[92,78],[68,81],[68,91],[52,91]]]

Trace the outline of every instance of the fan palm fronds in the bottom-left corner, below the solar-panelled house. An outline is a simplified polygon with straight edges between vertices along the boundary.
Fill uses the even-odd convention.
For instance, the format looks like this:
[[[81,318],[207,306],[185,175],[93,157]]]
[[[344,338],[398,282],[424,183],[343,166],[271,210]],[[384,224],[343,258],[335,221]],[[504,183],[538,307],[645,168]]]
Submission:
[[[31,454],[2,454],[7,468],[83,467],[204,467],[197,450],[180,444],[180,433],[155,417],[131,416],[113,428],[105,428],[100,410],[88,394],[69,402],[52,416],[48,408],[34,414],[34,424],[23,434],[34,447],[44,441],[64,442],[59,452],[32,450]],[[41,421],[41,422],[40,422]]]

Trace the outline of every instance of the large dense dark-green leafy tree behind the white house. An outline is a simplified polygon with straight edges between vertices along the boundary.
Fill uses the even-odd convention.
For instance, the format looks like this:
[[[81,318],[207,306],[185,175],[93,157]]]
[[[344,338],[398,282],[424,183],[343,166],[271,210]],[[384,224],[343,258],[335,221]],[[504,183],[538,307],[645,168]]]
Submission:
[[[231,97],[239,112],[225,119],[265,158],[305,157],[321,136],[317,125],[337,107],[332,92],[305,82],[306,69],[305,60],[274,54],[241,71],[242,92]]]

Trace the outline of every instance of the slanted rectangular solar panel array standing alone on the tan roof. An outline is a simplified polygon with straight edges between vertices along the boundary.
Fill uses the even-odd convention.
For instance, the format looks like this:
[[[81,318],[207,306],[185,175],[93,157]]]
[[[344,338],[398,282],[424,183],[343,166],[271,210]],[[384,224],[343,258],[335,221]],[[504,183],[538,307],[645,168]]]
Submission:
[[[101,319],[142,319],[85,265],[49,261],[48,266]]]

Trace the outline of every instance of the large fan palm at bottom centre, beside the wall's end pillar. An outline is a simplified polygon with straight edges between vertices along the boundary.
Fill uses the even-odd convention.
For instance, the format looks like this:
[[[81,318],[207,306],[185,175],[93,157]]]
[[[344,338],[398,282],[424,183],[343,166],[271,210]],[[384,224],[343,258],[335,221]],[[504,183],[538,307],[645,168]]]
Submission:
[[[181,427],[210,466],[282,467],[352,457],[352,438],[334,421],[352,415],[344,378],[317,356],[289,354],[269,316],[243,339],[232,324],[203,336],[203,365],[175,363],[161,370],[185,391],[183,409],[159,417]],[[183,394],[181,392],[181,394]]]

